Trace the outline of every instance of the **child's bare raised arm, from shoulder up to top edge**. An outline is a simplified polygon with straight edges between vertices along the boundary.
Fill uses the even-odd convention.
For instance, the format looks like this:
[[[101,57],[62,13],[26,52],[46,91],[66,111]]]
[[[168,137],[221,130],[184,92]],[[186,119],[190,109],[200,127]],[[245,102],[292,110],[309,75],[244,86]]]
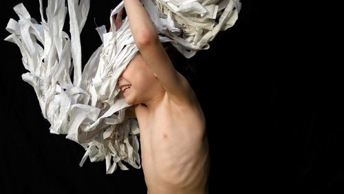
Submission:
[[[186,98],[190,85],[173,67],[169,56],[160,43],[147,10],[140,0],[124,0],[124,2],[134,41],[144,61],[148,63],[158,77],[167,94],[178,99]]]

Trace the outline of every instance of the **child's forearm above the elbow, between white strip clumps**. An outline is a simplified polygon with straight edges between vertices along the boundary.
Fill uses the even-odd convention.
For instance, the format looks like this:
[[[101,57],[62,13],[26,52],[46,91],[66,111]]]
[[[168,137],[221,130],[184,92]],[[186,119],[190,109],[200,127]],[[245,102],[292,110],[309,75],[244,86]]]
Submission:
[[[140,0],[124,0],[125,10],[129,19],[133,38],[140,47],[152,39],[158,39],[155,27],[147,10],[144,8]]]

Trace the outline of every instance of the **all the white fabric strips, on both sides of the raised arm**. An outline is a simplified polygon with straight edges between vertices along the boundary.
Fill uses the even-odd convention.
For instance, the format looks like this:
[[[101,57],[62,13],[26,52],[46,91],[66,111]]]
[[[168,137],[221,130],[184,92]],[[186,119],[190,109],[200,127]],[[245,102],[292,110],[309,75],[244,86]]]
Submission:
[[[160,41],[171,42],[186,58],[208,49],[217,33],[237,21],[239,0],[141,0],[155,23]],[[23,3],[14,7],[19,21],[10,19],[5,40],[16,43],[23,56],[25,82],[34,87],[50,133],[67,134],[81,144],[91,162],[106,161],[106,173],[122,161],[140,168],[138,122],[125,116],[129,107],[116,87],[118,77],[138,48],[127,18],[119,29],[111,16],[124,7],[121,2],[111,12],[112,32],[105,25],[96,28],[103,44],[89,58],[82,71],[80,33],[89,11],[89,0],[48,0],[41,22],[30,17]],[[63,32],[69,14],[69,34]],[[71,80],[72,70],[74,78]],[[112,161],[111,161],[112,160]]]

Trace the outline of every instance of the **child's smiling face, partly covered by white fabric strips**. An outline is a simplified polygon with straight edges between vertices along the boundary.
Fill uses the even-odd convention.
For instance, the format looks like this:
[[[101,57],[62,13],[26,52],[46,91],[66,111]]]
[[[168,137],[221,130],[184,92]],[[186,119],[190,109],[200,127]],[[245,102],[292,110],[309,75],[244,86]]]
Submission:
[[[156,82],[157,78],[153,71],[138,53],[118,78],[118,87],[127,104],[136,105],[149,100],[152,94],[151,87],[156,85]]]

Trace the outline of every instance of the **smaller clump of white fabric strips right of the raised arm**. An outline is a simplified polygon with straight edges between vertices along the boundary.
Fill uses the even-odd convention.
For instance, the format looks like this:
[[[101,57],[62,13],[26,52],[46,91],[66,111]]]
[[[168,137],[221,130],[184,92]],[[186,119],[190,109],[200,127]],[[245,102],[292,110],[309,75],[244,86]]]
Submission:
[[[237,21],[239,0],[141,0],[160,33],[186,58],[209,48],[219,31]]]

